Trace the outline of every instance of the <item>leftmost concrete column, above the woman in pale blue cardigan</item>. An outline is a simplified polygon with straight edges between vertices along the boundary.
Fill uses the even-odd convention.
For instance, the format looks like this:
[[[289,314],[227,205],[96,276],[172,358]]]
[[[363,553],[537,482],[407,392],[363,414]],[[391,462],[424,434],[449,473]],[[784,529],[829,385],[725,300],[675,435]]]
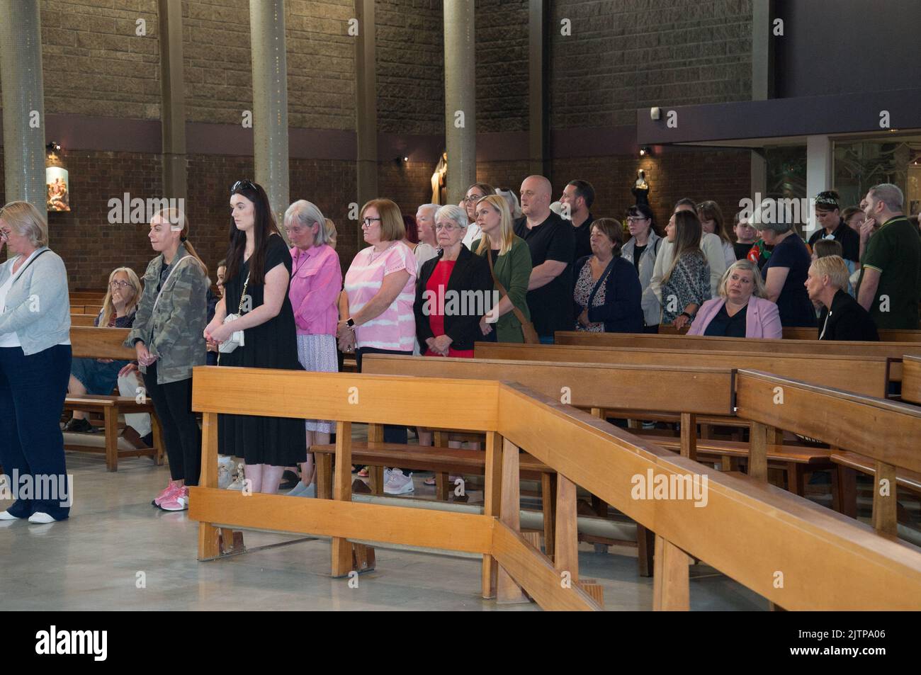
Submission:
[[[0,0],[0,17],[6,201],[24,200],[44,214],[48,191],[39,3]]]

